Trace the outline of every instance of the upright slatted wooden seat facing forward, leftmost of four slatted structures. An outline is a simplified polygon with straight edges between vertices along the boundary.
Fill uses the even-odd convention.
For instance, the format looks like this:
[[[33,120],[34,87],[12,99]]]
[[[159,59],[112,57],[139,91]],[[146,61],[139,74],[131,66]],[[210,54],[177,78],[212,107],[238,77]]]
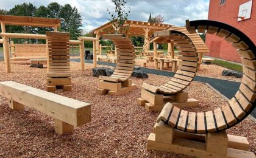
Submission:
[[[46,32],[48,42],[48,91],[71,91],[69,33]]]

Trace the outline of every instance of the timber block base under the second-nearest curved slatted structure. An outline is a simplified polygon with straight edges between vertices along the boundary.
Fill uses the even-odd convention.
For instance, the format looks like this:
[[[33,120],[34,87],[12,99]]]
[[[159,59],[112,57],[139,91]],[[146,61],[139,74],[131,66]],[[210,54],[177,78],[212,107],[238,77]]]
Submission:
[[[179,108],[199,106],[199,101],[193,98],[188,98],[187,92],[164,96],[163,94],[154,94],[146,89],[141,89],[141,97],[137,98],[137,104],[144,106],[148,112],[160,112],[168,102]]]

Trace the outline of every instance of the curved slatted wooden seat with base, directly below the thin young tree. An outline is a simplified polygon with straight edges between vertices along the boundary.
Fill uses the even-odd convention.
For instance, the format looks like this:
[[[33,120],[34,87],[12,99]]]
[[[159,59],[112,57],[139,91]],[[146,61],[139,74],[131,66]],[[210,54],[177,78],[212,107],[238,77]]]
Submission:
[[[99,77],[98,94],[123,94],[136,88],[130,76],[135,65],[135,52],[132,41],[124,35],[107,34],[102,38],[112,40],[116,47],[117,63],[110,77]]]

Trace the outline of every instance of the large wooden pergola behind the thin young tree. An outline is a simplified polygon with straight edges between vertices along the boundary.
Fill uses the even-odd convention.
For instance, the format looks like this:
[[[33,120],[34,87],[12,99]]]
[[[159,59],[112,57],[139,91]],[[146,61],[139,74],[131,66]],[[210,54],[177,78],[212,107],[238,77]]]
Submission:
[[[151,35],[155,31],[166,30],[172,25],[169,24],[158,24],[155,22],[144,22],[144,21],[125,21],[124,27],[129,26],[127,30],[127,36],[144,36],[144,50],[149,50],[149,40]],[[107,22],[106,24],[94,29],[94,33],[96,34],[96,38],[98,39],[96,45],[97,50],[99,50],[99,37],[102,34],[110,34],[115,33],[115,29],[113,27],[112,21]],[[98,52],[99,53],[99,52]]]

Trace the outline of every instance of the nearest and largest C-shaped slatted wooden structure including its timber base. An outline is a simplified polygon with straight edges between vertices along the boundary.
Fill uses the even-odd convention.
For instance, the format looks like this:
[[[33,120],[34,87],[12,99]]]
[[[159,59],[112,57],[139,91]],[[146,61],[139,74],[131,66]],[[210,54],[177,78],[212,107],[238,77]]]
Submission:
[[[166,103],[157,118],[157,126],[165,131],[151,133],[148,138],[148,149],[173,151],[199,157],[255,157],[254,153],[244,151],[249,146],[246,138],[236,137],[230,141],[226,129],[232,128],[243,121],[255,108],[256,99],[256,47],[240,30],[217,21],[199,20],[186,21],[189,32],[214,34],[224,38],[241,55],[243,64],[243,80],[235,96],[229,104],[207,112],[188,112],[171,103]],[[174,138],[178,131],[184,131],[181,140]],[[192,133],[188,136],[188,133]],[[204,134],[204,142],[191,142],[191,137],[199,139]],[[161,138],[161,139],[158,139]],[[168,142],[166,142],[168,141]],[[184,143],[180,143],[184,142]],[[185,143],[187,142],[187,143]],[[229,143],[232,145],[229,146]],[[162,146],[160,148],[159,146]],[[206,146],[206,148],[205,148]]]

